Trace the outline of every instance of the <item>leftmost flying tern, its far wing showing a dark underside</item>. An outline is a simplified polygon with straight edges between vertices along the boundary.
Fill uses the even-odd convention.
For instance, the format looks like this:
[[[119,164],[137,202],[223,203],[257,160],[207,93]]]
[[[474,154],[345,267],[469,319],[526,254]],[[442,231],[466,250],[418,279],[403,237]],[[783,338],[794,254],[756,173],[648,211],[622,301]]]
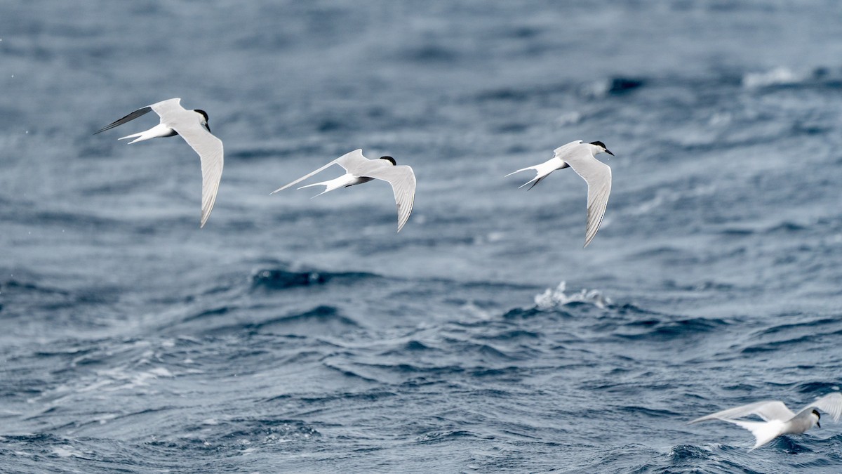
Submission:
[[[216,202],[216,191],[219,190],[219,180],[222,178],[222,141],[210,133],[208,126],[208,115],[205,110],[186,110],[180,105],[181,99],[169,99],[147,105],[137,109],[131,114],[102,127],[98,132],[105,132],[114,127],[123,125],[127,121],[133,121],[150,110],[155,110],[161,116],[161,123],[150,128],[146,132],[132,133],[125,137],[134,138],[131,143],[142,142],[150,138],[172,137],[181,135],[184,141],[199,154],[202,162],[202,214],[200,228],[210,217],[210,211]],[[94,133],[94,135],[96,135]]]

